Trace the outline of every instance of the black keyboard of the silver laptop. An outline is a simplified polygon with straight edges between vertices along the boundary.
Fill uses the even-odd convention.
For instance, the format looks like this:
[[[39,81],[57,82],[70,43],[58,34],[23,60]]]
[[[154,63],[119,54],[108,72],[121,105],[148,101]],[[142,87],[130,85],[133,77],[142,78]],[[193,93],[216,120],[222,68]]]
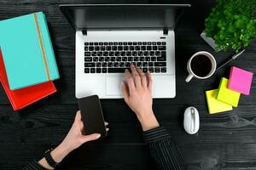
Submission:
[[[166,73],[166,42],[84,42],[84,73]]]

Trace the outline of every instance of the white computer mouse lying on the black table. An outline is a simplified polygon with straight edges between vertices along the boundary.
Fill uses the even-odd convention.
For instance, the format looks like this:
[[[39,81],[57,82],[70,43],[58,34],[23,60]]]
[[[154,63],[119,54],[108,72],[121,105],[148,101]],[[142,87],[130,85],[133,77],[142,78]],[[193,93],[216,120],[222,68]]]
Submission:
[[[195,107],[188,107],[184,112],[183,127],[189,134],[195,134],[200,127],[199,114]]]

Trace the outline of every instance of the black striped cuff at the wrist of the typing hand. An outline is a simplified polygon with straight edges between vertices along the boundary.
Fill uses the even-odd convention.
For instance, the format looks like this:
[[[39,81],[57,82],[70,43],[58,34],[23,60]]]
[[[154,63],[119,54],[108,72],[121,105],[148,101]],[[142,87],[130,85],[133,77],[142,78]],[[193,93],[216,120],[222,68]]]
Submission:
[[[146,144],[154,143],[168,137],[170,137],[170,135],[164,127],[155,127],[143,133],[143,138]]]

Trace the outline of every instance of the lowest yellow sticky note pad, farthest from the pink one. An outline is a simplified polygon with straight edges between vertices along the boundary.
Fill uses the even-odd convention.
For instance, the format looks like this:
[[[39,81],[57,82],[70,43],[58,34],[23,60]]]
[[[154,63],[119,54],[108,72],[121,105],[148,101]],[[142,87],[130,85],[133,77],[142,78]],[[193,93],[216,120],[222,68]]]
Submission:
[[[224,102],[218,101],[218,99],[216,99],[217,94],[218,89],[206,91],[209,113],[213,114],[223,111],[232,111],[232,105],[225,104]]]

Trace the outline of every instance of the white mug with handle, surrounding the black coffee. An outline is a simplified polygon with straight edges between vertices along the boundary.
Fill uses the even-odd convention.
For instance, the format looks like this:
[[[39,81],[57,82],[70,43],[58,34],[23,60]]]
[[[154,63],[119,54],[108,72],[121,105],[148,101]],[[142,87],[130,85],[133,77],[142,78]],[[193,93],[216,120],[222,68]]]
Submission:
[[[210,59],[211,61],[211,71],[209,71],[209,73],[207,74],[207,76],[205,77],[200,77],[200,76],[197,76],[191,69],[191,61],[192,59],[194,59],[196,56],[198,55],[204,55],[206,56],[208,59]],[[209,77],[212,77],[212,74],[216,71],[216,60],[214,59],[214,57],[212,56],[212,54],[209,54],[208,52],[206,51],[200,51],[200,52],[197,52],[196,54],[192,55],[192,57],[190,57],[188,63],[187,63],[187,70],[189,71],[189,76],[186,78],[186,82],[189,82],[193,77],[195,78],[198,78],[198,79],[206,79],[206,78],[209,78]]]

